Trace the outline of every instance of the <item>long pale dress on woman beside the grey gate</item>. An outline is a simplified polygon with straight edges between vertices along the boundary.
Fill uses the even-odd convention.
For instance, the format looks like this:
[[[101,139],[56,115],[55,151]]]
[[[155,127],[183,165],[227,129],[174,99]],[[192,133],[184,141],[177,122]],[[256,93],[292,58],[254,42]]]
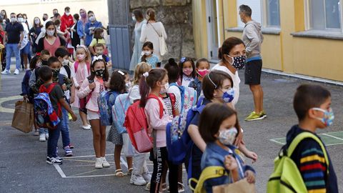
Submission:
[[[130,70],[134,71],[136,69],[136,65],[141,61],[141,46],[143,45],[139,39],[141,38],[141,26],[146,24],[146,20],[144,19],[141,23],[136,24],[134,26],[134,52],[131,57],[130,61]]]

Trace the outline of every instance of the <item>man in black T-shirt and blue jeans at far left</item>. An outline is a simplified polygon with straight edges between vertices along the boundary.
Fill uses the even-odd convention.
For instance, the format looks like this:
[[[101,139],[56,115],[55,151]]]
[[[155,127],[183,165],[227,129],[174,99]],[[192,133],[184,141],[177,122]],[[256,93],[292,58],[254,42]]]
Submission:
[[[16,14],[11,13],[11,22],[6,24],[5,29],[5,40],[6,44],[6,69],[1,72],[1,74],[11,74],[9,67],[11,66],[11,54],[14,52],[16,56],[16,70],[14,74],[19,74],[20,69],[20,54],[19,48],[21,47],[21,42],[24,39],[24,28],[23,25],[16,21]]]

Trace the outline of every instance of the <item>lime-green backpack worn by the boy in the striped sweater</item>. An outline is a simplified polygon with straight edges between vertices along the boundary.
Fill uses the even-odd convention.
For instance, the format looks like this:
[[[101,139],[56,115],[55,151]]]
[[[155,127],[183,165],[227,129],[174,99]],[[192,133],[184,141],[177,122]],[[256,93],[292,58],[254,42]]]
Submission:
[[[282,147],[279,156],[274,159],[274,172],[269,177],[267,183],[267,192],[307,192],[307,187],[302,179],[302,175],[297,168],[297,164],[291,159],[291,155],[299,142],[303,139],[311,138],[319,143],[324,153],[325,162],[327,163],[327,172],[329,173],[329,159],[322,141],[310,132],[298,134],[287,148]]]

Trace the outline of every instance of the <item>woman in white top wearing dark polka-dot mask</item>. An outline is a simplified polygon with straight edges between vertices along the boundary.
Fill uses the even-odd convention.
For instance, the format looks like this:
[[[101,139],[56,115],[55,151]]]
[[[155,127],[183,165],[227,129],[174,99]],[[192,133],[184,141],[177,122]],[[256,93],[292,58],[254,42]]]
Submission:
[[[238,102],[239,83],[241,82],[241,79],[239,79],[238,76],[238,71],[233,65],[238,65],[237,63],[243,62],[243,60],[239,60],[239,57],[247,57],[244,43],[242,39],[237,37],[229,37],[223,42],[222,47],[219,48],[219,63],[212,68],[212,70],[226,72],[231,76],[232,81],[234,81],[234,100],[232,101],[233,107]]]

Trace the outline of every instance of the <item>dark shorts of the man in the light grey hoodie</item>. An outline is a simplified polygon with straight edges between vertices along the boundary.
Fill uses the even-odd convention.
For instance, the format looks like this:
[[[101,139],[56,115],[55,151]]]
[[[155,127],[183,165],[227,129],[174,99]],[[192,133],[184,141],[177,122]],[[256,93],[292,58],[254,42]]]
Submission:
[[[245,64],[244,84],[261,84],[262,59],[248,61]]]

